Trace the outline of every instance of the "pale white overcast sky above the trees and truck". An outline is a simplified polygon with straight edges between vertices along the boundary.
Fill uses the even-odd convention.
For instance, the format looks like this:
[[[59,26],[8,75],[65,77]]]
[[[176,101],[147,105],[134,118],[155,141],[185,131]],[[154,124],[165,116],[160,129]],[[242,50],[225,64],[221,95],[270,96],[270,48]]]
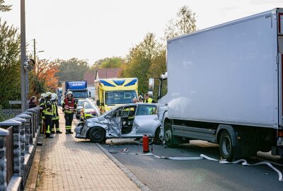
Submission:
[[[6,0],[12,11],[1,22],[21,26],[21,1]],[[283,0],[25,0],[27,51],[36,40],[40,59],[125,57],[146,33],[159,39],[182,6],[196,13],[197,29],[283,8]],[[44,52],[42,52],[44,51]]]

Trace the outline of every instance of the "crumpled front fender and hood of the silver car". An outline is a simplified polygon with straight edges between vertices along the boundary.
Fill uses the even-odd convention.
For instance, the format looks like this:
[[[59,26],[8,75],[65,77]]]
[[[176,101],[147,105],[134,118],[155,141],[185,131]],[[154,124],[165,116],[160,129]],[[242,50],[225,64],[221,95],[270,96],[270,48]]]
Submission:
[[[93,117],[86,120],[87,127],[103,127],[107,136],[122,137],[121,129],[121,117],[113,119],[105,119],[104,117]]]

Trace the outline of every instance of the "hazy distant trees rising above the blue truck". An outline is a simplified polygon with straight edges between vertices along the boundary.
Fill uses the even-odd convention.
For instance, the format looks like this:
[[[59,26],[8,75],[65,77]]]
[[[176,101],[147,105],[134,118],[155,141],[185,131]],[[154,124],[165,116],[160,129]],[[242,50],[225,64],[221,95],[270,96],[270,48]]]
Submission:
[[[81,81],[83,73],[88,71],[89,66],[86,60],[72,58],[69,60],[57,60],[59,64],[58,76],[59,81]]]

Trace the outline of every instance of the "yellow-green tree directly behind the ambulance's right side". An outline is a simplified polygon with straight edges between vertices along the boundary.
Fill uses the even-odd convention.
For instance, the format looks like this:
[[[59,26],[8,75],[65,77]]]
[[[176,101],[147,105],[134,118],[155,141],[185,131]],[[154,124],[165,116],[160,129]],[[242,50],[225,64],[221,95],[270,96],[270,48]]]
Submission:
[[[127,54],[125,64],[122,65],[122,77],[137,77],[139,79],[139,91],[146,93],[148,89],[148,72],[151,63],[158,55],[161,45],[155,39],[153,33],[146,34],[144,40],[132,47]]]

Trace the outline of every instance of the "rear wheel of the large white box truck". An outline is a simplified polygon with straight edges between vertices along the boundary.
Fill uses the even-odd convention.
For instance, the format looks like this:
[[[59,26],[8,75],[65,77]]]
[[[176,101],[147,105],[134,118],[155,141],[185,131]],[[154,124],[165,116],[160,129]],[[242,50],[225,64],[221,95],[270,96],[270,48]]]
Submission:
[[[219,141],[219,150],[222,158],[227,161],[232,161],[234,156],[234,147],[232,144],[231,135],[227,130],[221,132]]]

